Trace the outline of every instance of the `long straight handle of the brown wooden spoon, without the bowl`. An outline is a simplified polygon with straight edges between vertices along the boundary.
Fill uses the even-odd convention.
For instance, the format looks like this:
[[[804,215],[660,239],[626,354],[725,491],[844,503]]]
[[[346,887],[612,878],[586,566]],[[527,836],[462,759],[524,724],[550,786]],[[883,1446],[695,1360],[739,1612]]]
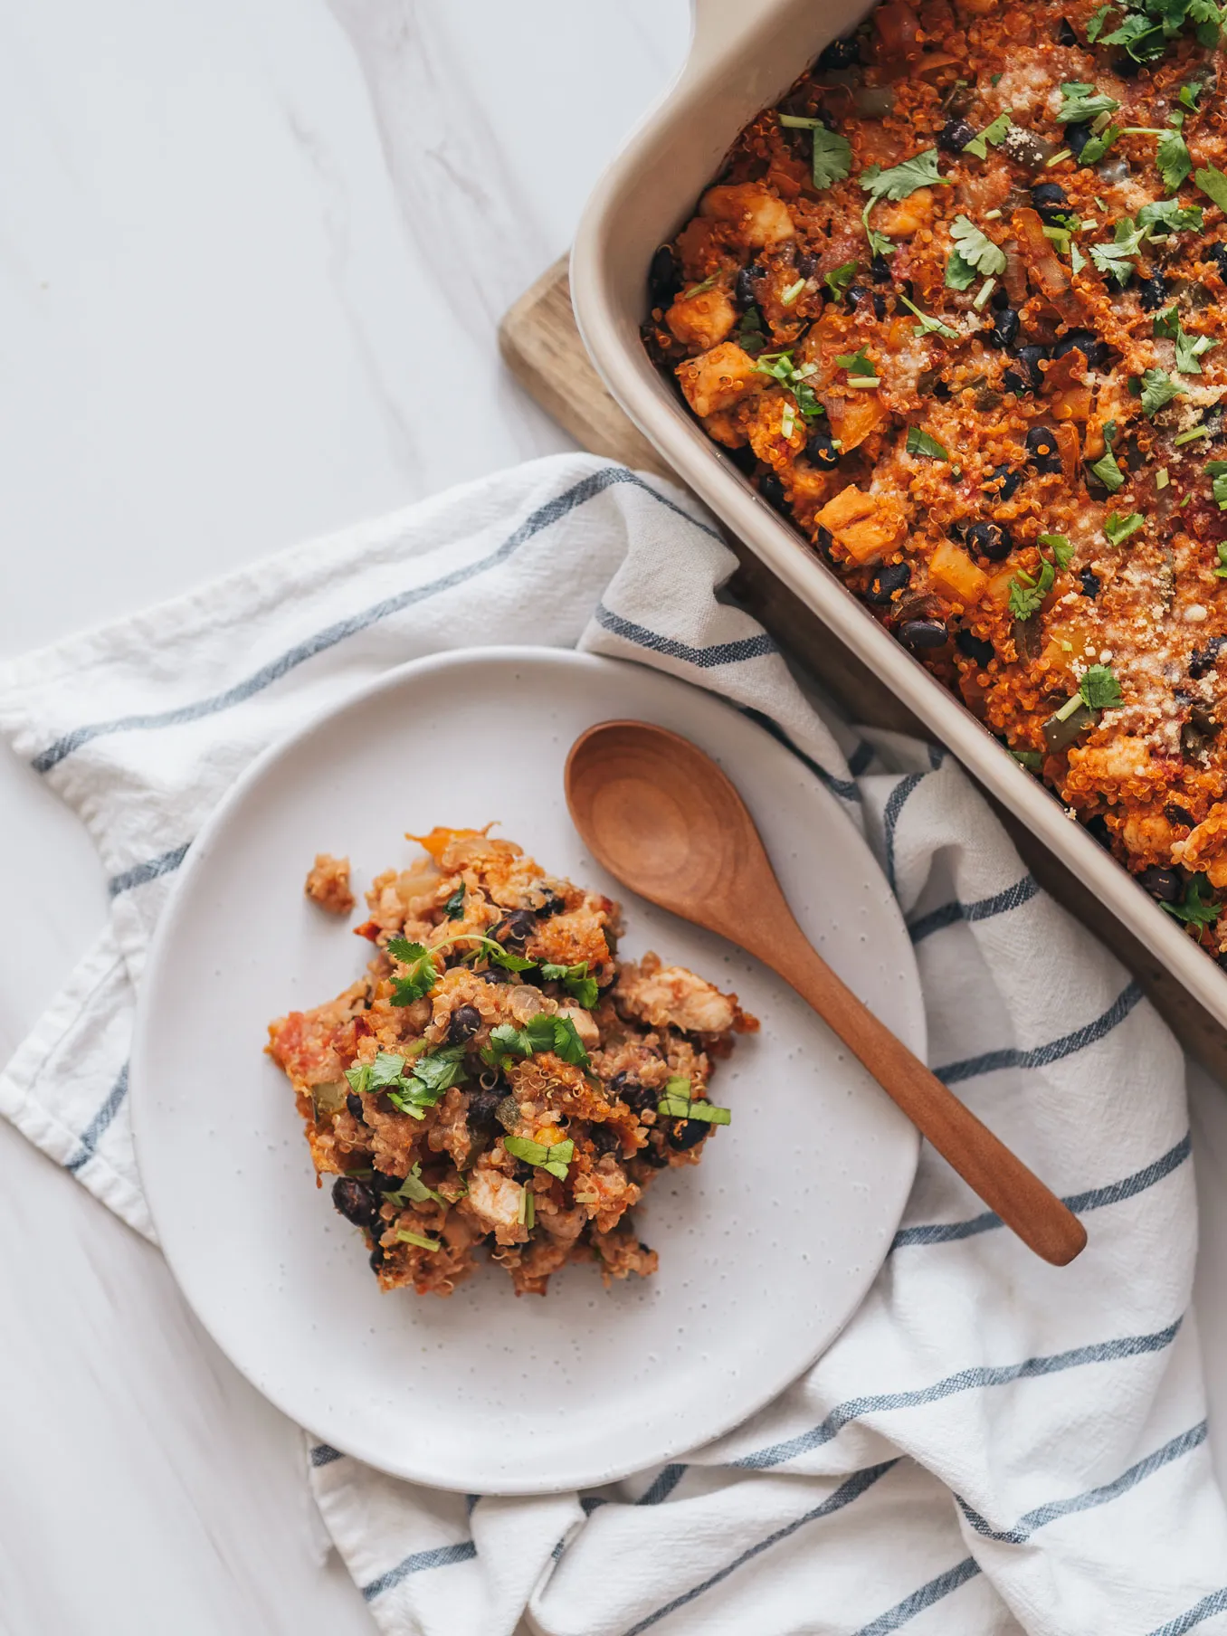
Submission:
[[[795,937],[777,936],[771,955],[756,951],[759,959],[766,959],[813,1006],[1006,1227],[1054,1266],[1072,1261],[1086,1245],[1086,1229],[1073,1211],[879,1022],[816,954],[800,928],[795,933]]]

